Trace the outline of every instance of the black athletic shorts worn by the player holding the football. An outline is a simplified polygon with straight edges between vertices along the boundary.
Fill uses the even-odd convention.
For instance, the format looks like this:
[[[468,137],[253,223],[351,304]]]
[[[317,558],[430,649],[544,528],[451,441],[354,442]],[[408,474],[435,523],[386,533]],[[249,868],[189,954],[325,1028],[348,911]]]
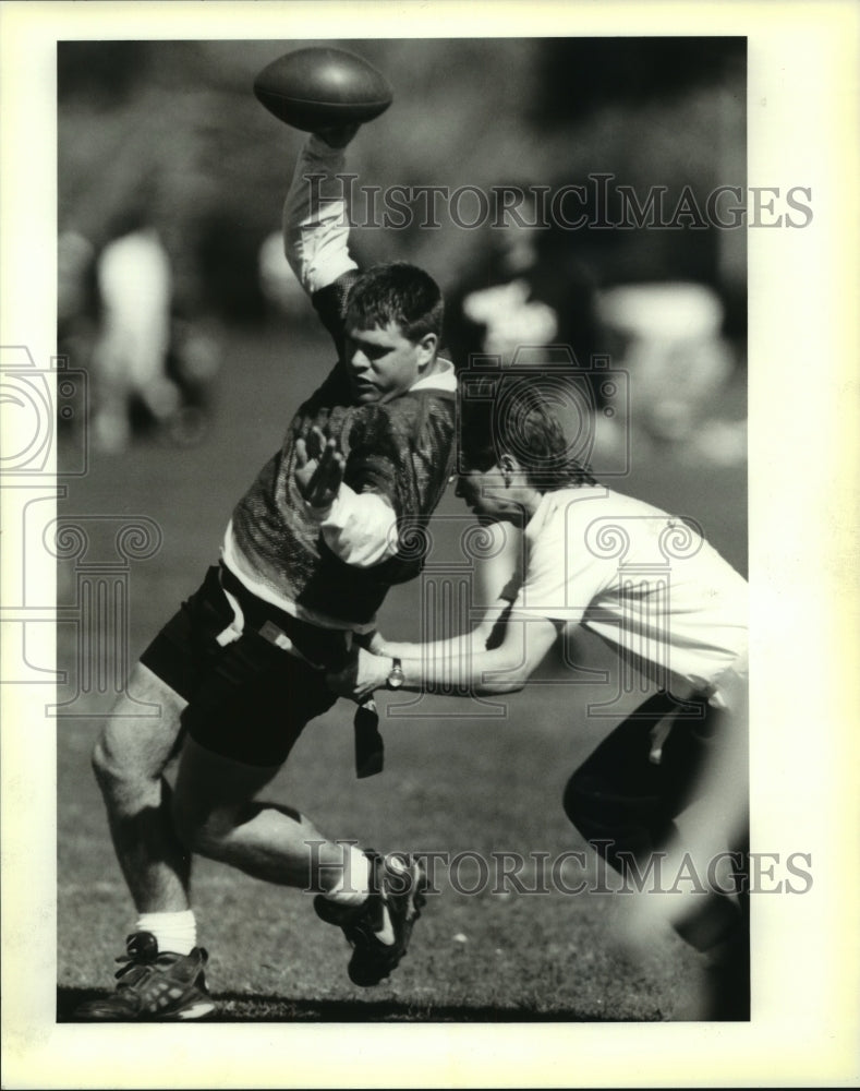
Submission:
[[[230,643],[218,640],[234,620],[225,587],[244,615],[241,637]],[[183,730],[202,746],[246,765],[280,765],[304,726],[337,696],[323,671],[274,643],[278,632],[312,663],[337,669],[347,658],[348,633],[299,621],[252,595],[223,565],[214,566],[141,662],[189,702]]]

